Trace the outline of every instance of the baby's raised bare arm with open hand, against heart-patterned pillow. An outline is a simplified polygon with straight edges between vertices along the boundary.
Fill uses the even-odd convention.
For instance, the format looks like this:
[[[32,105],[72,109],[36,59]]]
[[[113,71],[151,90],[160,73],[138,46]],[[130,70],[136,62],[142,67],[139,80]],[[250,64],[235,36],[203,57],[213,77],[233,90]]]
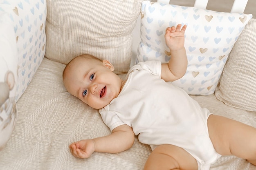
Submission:
[[[166,82],[180,79],[186,73],[188,60],[184,48],[185,31],[186,25],[181,28],[181,24],[178,24],[176,28],[172,26],[166,29],[164,38],[171,53],[170,61],[162,64],[161,77]]]

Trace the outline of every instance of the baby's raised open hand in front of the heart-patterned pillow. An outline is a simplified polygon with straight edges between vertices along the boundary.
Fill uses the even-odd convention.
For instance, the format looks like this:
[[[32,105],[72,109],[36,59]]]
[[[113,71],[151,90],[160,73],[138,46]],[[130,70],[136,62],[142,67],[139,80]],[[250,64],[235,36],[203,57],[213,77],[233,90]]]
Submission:
[[[170,50],[180,50],[184,47],[184,33],[186,31],[186,25],[181,28],[181,24],[178,24],[177,27],[172,26],[166,29],[164,38],[166,45]]]

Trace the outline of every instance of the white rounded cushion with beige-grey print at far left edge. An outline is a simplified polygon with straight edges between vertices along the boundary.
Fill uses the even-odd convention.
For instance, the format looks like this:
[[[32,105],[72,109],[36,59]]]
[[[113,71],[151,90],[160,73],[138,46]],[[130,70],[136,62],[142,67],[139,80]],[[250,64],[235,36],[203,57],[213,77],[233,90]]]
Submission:
[[[0,150],[5,146],[17,119],[15,102],[18,52],[13,22],[0,10]]]

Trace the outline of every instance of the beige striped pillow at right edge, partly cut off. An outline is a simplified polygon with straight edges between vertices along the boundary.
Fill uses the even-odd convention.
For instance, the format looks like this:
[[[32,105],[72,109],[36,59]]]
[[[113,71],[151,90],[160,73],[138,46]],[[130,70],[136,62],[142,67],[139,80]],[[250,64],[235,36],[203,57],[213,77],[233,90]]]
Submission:
[[[256,111],[256,19],[234,45],[215,95],[229,106]]]

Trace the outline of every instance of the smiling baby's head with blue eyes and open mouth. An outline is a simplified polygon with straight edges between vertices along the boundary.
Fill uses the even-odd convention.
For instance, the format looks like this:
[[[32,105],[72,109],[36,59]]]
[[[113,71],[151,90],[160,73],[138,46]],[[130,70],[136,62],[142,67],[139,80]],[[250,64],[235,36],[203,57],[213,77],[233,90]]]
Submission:
[[[121,91],[122,80],[106,60],[77,57],[66,69],[63,82],[67,91],[92,108],[110,104]]]

